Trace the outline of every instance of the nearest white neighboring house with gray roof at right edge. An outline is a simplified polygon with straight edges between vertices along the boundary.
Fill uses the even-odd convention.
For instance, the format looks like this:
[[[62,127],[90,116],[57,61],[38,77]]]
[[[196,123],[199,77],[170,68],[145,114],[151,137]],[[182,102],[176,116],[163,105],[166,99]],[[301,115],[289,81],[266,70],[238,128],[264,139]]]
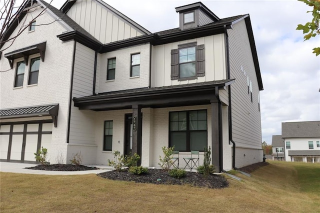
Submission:
[[[320,121],[282,122],[286,161],[320,162]]]

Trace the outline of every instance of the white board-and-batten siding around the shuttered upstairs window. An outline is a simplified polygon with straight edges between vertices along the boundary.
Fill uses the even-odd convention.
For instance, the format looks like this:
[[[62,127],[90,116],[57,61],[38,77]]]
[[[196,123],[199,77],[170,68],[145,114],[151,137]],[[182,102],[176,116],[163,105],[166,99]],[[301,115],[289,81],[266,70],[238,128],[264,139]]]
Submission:
[[[204,44],[205,75],[193,80],[171,80],[171,49],[178,44],[197,42]],[[170,86],[226,79],[223,34],[210,35],[152,47],[151,87]]]

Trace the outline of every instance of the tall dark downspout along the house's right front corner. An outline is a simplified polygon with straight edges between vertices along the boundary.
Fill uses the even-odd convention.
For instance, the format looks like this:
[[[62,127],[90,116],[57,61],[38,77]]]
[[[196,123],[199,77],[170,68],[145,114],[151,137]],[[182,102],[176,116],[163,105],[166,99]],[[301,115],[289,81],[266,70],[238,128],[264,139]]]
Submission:
[[[226,70],[227,70],[227,78],[230,79],[230,61],[229,61],[229,38],[228,33],[226,31],[226,26],[223,26],[224,28],[224,40],[225,40],[225,54],[226,54]],[[228,100],[229,100],[229,141],[231,141],[233,148],[232,148],[232,168],[237,170],[237,167],[235,167],[235,142],[232,139],[232,109],[231,109],[231,85],[228,85]]]

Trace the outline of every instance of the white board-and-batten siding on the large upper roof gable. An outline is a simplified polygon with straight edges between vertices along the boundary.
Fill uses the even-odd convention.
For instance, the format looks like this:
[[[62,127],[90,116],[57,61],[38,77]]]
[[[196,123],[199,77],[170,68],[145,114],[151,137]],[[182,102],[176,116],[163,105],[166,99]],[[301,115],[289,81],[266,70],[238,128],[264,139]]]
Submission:
[[[145,34],[94,0],[77,0],[66,14],[101,43]]]

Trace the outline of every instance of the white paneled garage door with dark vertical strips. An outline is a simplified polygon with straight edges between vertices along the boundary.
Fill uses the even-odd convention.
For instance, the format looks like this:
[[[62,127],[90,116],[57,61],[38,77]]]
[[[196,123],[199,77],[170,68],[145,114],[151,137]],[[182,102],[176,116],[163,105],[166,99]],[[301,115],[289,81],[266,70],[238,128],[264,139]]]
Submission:
[[[34,152],[41,146],[51,149],[52,120],[1,123],[0,160],[35,162]]]

